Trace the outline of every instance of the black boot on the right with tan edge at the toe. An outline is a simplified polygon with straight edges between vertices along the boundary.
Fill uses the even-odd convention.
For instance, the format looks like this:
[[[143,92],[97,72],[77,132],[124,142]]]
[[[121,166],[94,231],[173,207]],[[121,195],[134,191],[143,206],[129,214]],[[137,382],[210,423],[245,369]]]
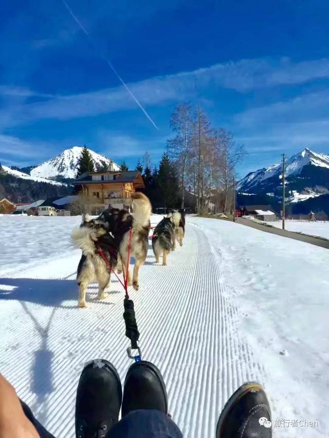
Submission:
[[[263,388],[245,383],[229,398],[218,420],[216,438],[271,438],[271,410]]]

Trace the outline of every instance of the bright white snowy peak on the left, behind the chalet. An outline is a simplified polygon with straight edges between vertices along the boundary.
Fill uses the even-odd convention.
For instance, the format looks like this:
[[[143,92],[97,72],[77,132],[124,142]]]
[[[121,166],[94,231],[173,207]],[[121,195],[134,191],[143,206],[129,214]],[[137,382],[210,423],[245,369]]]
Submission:
[[[76,178],[78,160],[81,156],[82,149],[80,146],[74,146],[70,149],[63,150],[63,152],[56,157],[31,169],[31,176],[49,179],[58,176],[63,178]],[[109,165],[111,163],[111,160],[103,155],[97,154],[93,150],[88,150],[92,156],[96,170],[101,168],[104,164]],[[119,170],[119,166],[116,163],[113,163],[113,170]]]

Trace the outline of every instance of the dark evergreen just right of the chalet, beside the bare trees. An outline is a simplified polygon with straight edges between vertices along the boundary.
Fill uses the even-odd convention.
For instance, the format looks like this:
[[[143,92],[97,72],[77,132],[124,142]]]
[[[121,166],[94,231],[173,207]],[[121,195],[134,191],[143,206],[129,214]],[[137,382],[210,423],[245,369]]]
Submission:
[[[174,207],[178,201],[178,181],[176,169],[169,160],[168,154],[163,154],[159,172],[157,176],[157,185],[160,189],[161,197],[167,207]]]

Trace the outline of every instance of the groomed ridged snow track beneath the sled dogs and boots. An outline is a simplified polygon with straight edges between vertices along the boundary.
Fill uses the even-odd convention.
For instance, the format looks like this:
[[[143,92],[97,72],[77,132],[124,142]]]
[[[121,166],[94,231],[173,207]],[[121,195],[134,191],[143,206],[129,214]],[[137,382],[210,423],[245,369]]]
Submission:
[[[0,358],[1,372],[49,431],[63,438],[74,436],[83,364],[97,357],[111,360],[123,382],[132,363],[125,352],[121,285],[113,278],[104,301],[97,300],[92,285],[88,308],[78,309],[72,274],[78,260],[78,252],[63,258],[59,279],[53,278],[51,261],[42,268],[48,279],[28,278],[27,272],[0,279],[5,357],[10,357]],[[160,368],[169,411],[191,438],[214,436],[232,392],[246,380],[264,380],[263,368],[237,331],[234,294],[226,289],[222,269],[221,254],[189,222],[184,246],[170,254],[168,266],[155,265],[150,245],[140,290],[131,289],[143,359]]]

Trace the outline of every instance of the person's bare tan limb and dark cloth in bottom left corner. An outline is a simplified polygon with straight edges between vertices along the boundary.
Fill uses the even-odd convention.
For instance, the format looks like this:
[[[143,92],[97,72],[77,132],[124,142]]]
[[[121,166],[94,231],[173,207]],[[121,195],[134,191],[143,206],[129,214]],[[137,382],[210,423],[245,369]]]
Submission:
[[[53,438],[0,374],[0,438]]]

